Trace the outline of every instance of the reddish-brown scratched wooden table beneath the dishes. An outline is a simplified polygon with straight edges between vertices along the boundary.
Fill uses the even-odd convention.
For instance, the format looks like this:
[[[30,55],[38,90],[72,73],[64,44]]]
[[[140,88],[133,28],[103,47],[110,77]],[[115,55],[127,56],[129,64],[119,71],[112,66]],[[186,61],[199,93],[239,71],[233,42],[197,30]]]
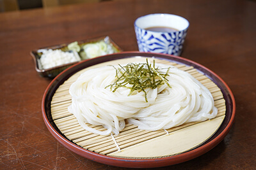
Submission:
[[[124,51],[138,50],[133,23],[148,13],[187,18],[181,56],[218,74],[236,98],[236,120],[225,139],[168,168],[256,168],[256,2],[124,0],[0,13],[0,169],[125,169],[85,159],[52,137],[41,111],[51,80],[38,76],[29,52],[106,35]]]

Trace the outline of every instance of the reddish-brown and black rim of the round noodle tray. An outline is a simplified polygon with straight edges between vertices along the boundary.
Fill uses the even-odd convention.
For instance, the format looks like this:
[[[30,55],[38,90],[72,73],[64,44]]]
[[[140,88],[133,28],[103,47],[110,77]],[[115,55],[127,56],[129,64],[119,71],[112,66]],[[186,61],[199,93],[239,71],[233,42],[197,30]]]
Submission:
[[[94,64],[99,64],[100,62],[130,58],[134,56],[141,56],[141,57],[154,56],[156,58],[175,61],[188,66],[192,65],[193,67],[195,67],[195,69],[203,73],[204,71],[207,71],[208,73],[207,77],[209,77],[212,81],[214,81],[214,83],[216,83],[215,81],[218,81],[219,82],[217,84],[218,87],[220,84],[223,86],[219,88],[223,93],[223,97],[225,98],[226,105],[227,105],[227,102],[230,105],[229,109],[226,106],[227,111],[230,110],[230,117],[229,118],[227,116],[225,117],[226,121],[224,120],[223,123],[221,124],[222,129],[220,127],[220,129],[218,129],[217,131],[218,133],[216,132],[210,139],[205,141],[205,143],[203,143],[202,145],[192,150],[189,150],[188,152],[180,153],[179,155],[172,155],[170,157],[161,157],[161,158],[154,158],[154,159],[126,159],[122,157],[111,157],[107,155],[102,155],[100,153],[95,153],[90,150],[86,150],[81,146],[78,146],[72,141],[65,138],[65,136],[60,132],[60,130],[58,130],[58,128],[57,129],[54,128],[53,120],[49,120],[49,117],[47,116],[47,113],[46,113],[47,99],[49,101],[49,99],[51,99],[51,97],[53,96],[53,94],[50,94],[50,92],[53,92],[53,91],[55,92],[56,89],[58,89],[58,87],[63,83],[63,81],[67,80],[70,76],[72,76],[72,74],[83,69],[84,67],[79,68],[83,66],[83,64],[86,65],[86,67],[89,67],[89,66],[93,66]],[[77,70],[76,67],[79,68],[79,70]],[[72,69],[75,71],[75,72],[73,71],[74,73],[72,72]],[[197,62],[194,62],[192,60],[185,59],[183,57],[177,57],[174,55],[161,54],[161,53],[120,52],[120,53],[113,53],[110,55],[100,56],[90,60],[84,60],[82,62],[74,64],[73,66],[63,71],[62,73],[58,74],[58,76],[56,76],[56,78],[54,78],[54,80],[52,80],[51,83],[48,85],[42,99],[42,116],[44,118],[45,125],[47,126],[47,129],[49,129],[49,131],[51,132],[52,136],[54,136],[54,138],[56,138],[57,141],[61,143],[61,145],[65,146],[69,150],[72,150],[72,152],[75,152],[78,155],[85,157],[86,159],[90,159],[95,162],[100,162],[102,164],[108,164],[111,166],[118,166],[118,167],[163,167],[163,166],[170,166],[173,164],[179,164],[181,162],[186,162],[188,160],[195,159],[196,157],[203,155],[206,152],[209,152],[209,150],[214,148],[223,140],[223,138],[225,138],[225,136],[227,135],[228,131],[230,131],[230,128],[232,127],[232,124],[234,122],[235,112],[236,112],[236,103],[235,103],[234,95],[232,94],[232,91],[228,87],[227,83],[225,83],[225,81],[223,81],[220,78],[220,76],[212,72],[207,67],[202,66],[201,64],[198,64]]]

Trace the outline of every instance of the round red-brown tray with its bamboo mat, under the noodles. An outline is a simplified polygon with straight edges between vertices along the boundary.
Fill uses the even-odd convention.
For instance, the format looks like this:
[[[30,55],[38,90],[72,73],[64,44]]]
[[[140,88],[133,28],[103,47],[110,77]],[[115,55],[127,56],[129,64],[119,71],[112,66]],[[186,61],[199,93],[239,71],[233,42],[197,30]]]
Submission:
[[[87,69],[132,61],[144,62],[145,57],[179,67],[199,80],[214,97],[217,117],[166,131],[142,131],[130,124],[118,136],[99,136],[85,131],[76,117],[67,111],[71,104],[70,85]],[[193,159],[218,145],[234,121],[235,103],[225,82],[196,62],[159,53],[122,52],[86,60],[59,74],[45,90],[42,113],[53,136],[83,157],[112,166],[160,167]]]

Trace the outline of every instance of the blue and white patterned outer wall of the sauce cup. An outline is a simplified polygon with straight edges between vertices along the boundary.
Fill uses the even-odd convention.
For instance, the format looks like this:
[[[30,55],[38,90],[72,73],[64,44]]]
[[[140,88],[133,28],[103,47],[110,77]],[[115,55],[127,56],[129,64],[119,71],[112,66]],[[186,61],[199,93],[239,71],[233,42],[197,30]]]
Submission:
[[[188,29],[177,32],[154,32],[134,25],[140,52],[180,55]]]

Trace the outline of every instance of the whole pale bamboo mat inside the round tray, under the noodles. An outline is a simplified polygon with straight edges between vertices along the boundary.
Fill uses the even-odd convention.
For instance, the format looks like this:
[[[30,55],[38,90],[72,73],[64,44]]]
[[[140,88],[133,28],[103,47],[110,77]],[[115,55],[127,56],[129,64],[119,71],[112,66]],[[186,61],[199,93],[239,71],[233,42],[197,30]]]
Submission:
[[[148,58],[148,59],[152,60],[151,58]],[[108,64],[116,64],[116,62],[119,64],[122,64],[122,63],[131,62],[133,60],[145,61],[145,58],[141,59],[139,57],[138,59],[137,58],[120,59],[117,61],[115,60],[115,62],[113,61],[106,62],[104,64],[99,64],[93,67],[100,67]],[[86,71],[86,69],[92,68],[92,67],[88,67],[72,75],[70,78],[68,78],[68,80],[66,80],[62,85],[60,85],[60,87],[58,87],[51,101],[52,120],[54,120],[54,123],[56,124],[58,129],[60,129],[60,131],[68,139],[70,139],[70,141],[73,141],[77,145],[85,148],[86,150],[90,150],[92,152],[97,152],[103,155],[110,155],[114,157],[127,157],[127,158],[136,158],[136,159],[165,157],[165,156],[186,152],[188,150],[191,150],[192,148],[195,148],[196,146],[201,145],[202,143],[204,143],[204,141],[209,139],[214,134],[214,132],[218,130],[221,123],[223,122],[223,119],[225,118],[226,106],[225,106],[225,99],[223,98],[223,94],[221,90],[213,81],[207,78],[207,76],[205,76],[202,73],[199,73],[192,66],[177,64],[175,62],[168,62],[167,60],[159,60],[159,59],[154,59],[154,60],[156,60],[157,63],[170,64],[172,66],[178,67],[183,71],[188,72],[189,74],[194,76],[198,81],[200,81],[205,87],[207,87],[207,89],[209,89],[209,91],[211,92],[214,98],[214,105],[216,106],[216,108],[218,108],[217,117],[212,120],[207,120],[201,123],[189,123],[189,124],[180,125],[179,127],[173,127],[171,129],[159,130],[159,131],[144,131],[144,130],[138,129],[135,125],[126,124],[124,130],[120,132],[118,136],[116,135],[100,136],[100,135],[85,131],[77,122],[76,117],[74,117],[74,115],[68,112],[67,107],[71,104],[71,96],[68,92],[70,85],[74,81],[76,81],[77,77],[81,73]],[[89,126],[99,130],[104,129],[104,127],[102,126],[93,126],[93,125],[89,125]],[[208,128],[208,127],[211,127],[211,128]],[[190,136],[186,134],[183,135],[183,133],[189,134]],[[186,145],[185,147],[183,146],[177,147],[178,145],[180,145],[179,144],[180,142],[176,144],[170,143],[170,141],[172,142],[179,141],[180,138],[182,138],[182,140],[184,141],[189,140],[189,142],[183,144],[183,145]],[[191,138],[195,138],[195,139],[191,139]],[[154,145],[154,143],[158,143],[158,142],[160,143],[162,142],[162,145],[166,145],[166,146],[157,145],[155,149],[150,147]],[[148,150],[148,147],[151,150],[150,149]],[[170,152],[168,151],[167,153],[165,153],[166,148],[169,148]],[[164,153],[161,153],[163,152],[161,150],[164,150]]]

